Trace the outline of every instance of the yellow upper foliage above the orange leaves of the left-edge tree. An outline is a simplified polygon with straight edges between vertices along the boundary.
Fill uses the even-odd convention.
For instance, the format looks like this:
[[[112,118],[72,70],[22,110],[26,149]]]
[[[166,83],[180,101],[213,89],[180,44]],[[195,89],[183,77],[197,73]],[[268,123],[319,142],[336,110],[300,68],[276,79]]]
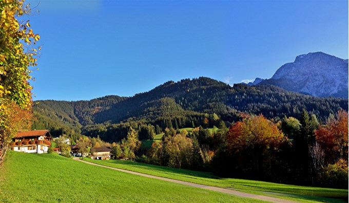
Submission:
[[[15,18],[30,11],[29,5],[23,5],[24,0],[0,1],[0,102],[11,100],[22,109],[29,109],[32,87],[28,83],[28,67],[37,65],[37,49],[32,46],[40,35],[33,33],[29,21],[19,23]]]

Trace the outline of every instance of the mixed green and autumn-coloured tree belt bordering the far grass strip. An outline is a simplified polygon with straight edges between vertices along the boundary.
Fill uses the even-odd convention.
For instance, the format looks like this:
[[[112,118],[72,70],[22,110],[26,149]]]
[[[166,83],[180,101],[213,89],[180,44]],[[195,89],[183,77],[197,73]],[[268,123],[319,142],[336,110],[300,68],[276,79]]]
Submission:
[[[302,110],[300,119],[274,123],[263,115],[244,115],[229,128],[166,128],[151,149],[140,148],[138,131],[112,144],[114,158],[167,167],[212,171],[248,178],[335,188],[348,187],[348,114],[340,110],[324,124]],[[144,138],[147,139],[147,138]]]

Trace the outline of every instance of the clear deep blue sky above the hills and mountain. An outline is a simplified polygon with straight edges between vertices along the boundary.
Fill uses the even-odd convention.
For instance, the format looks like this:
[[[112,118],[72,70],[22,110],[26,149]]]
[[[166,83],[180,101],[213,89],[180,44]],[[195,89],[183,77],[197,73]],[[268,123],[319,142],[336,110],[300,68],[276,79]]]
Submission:
[[[232,85],[308,52],[348,58],[348,1],[30,2],[43,45],[34,100],[132,96],[200,76]]]

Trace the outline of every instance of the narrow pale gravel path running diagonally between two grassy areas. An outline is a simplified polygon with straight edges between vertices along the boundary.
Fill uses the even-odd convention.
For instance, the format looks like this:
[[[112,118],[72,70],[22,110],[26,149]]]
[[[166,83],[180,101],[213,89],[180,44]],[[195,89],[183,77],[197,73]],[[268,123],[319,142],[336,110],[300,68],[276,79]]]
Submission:
[[[259,200],[264,200],[264,201],[269,201],[269,202],[278,202],[278,203],[294,203],[294,202],[297,202],[297,201],[291,201],[291,200],[287,200],[287,199],[280,199],[280,198],[269,197],[269,196],[264,196],[264,195],[255,195],[255,194],[239,192],[239,191],[225,189],[225,188],[205,186],[204,184],[185,182],[185,181],[181,181],[181,180],[174,180],[174,179],[163,178],[163,177],[159,177],[159,176],[148,175],[148,174],[144,174],[144,173],[127,171],[127,170],[124,170],[124,169],[107,167],[105,165],[100,165],[100,164],[96,164],[96,163],[91,163],[91,162],[80,160],[78,157],[75,157],[73,159],[77,160],[77,161],[81,161],[81,162],[87,163],[87,164],[98,165],[99,167],[104,167],[104,168],[108,168],[108,169],[112,169],[112,170],[122,171],[122,172],[125,172],[125,173],[130,173],[130,174],[134,174],[134,175],[139,175],[139,176],[144,176],[144,177],[154,178],[154,179],[159,179],[159,180],[165,180],[165,181],[169,181],[169,182],[176,182],[176,183],[180,183],[180,184],[185,184],[187,186],[192,186],[192,187],[196,187],[196,188],[202,188],[202,189],[212,190],[212,191],[217,191],[217,192],[223,192],[223,193],[232,194],[232,195],[236,195],[236,196],[240,196],[240,197],[255,198],[255,199],[259,199]]]

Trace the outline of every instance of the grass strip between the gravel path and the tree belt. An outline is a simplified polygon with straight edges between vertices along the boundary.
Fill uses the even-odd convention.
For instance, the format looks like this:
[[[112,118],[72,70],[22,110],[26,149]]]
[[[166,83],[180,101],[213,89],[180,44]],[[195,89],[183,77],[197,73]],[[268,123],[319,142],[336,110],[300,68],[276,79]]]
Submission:
[[[216,186],[221,188],[235,188],[240,191],[262,194],[259,191],[270,196],[279,196],[286,199],[292,199],[303,202],[346,202],[348,198],[348,190],[328,189],[293,186],[287,184],[278,184],[272,182],[263,182],[255,180],[243,180],[234,178],[219,178],[212,173],[198,172],[183,169],[173,169],[168,167],[161,167],[158,165],[151,165],[145,163],[137,163],[122,160],[91,160],[85,158],[84,160],[107,165],[109,167],[126,169],[130,171],[161,176],[171,179],[183,180],[188,182],[195,182],[206,184],[208,186]],[[270,193],[269,193],[270,192]],[[329,198],[331,197],[331,198]],[[342,199],[336,199],[342,198]],[[344,200],[345,199],[345,200]]]

